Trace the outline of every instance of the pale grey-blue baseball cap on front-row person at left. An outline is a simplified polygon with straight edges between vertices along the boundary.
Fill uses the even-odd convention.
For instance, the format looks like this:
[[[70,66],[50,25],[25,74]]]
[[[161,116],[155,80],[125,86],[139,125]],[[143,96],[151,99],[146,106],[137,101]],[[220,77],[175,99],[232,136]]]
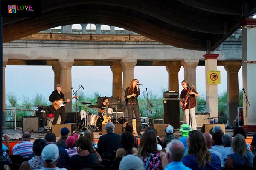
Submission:
[[[42,160],[46,164],[53,164],[57,161],[59,156],[59,149],[56,144],[48,144],[44,147],[41,153]]]

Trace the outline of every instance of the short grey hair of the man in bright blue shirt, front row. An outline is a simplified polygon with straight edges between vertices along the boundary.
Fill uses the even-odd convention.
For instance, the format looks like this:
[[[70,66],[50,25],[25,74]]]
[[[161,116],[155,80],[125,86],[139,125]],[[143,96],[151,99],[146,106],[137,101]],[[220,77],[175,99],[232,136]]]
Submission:
[[[167,144],[167,152],[172,161],[182,161],[185,152],[184,144],[178,139],[173,139]]]

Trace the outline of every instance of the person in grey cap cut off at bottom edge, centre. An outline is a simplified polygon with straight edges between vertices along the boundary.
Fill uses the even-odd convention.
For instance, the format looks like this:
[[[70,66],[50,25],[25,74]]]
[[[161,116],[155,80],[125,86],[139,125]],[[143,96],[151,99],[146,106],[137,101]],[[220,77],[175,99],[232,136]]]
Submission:
[[[120,161],[119,170],[145,170],[145,168],[139,156],[126,155]]]

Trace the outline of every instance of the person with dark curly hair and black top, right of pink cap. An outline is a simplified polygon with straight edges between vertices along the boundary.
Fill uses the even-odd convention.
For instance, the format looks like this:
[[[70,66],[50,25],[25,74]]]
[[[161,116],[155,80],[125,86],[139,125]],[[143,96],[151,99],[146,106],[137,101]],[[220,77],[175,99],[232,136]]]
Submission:
[[[99,158],[96,154],[90,153],[92,141],[85,136],[80,136],[76,140],[77,155],[71,157],[71,168],[81,170],[92,164],[99,164]]]

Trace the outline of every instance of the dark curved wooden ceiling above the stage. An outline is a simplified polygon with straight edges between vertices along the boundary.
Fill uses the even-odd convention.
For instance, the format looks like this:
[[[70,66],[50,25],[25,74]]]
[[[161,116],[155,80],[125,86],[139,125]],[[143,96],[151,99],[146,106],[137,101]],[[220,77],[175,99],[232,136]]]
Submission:
[[[56,26],[96,23],[209,52],[255,13],[256,0],[42,0],[41,17],[3,17],[3,42]]]

